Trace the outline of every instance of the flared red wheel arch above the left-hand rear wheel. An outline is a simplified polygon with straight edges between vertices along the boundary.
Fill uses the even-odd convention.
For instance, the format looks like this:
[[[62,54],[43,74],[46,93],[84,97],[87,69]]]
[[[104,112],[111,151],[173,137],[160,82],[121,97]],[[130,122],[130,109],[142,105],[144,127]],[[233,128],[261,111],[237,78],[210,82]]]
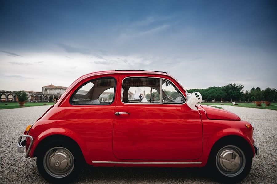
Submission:
[[[73,132],[70,129],[64,128],[64,127],[49,128],[49,129],[45,130],[44,132],[40,133],[37,137],[35,137],[35,141],[30,150],[30,157],[33,157],[34,151],[35,151],[36,147],[38,146],[38,144],[43,139],[45,139],[46,137],[51,136],[51,135],[63,135],[63,136],[67,136],[67,137],[73,139],[81,148],[84,158],[87,158],[88,148],[85,144],[85,141],[80,136],[78,136],[75,132]]]

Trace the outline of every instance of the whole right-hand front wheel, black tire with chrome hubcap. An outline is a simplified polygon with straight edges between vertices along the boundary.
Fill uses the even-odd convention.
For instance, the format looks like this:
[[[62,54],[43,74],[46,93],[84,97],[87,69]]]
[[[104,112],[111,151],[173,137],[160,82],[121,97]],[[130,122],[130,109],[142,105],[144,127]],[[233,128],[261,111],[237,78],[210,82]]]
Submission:
[[[238,183],[248,175],[252,166],[252,153],[247,148],[232,141],[215,145],[208,165],[221,182]]]

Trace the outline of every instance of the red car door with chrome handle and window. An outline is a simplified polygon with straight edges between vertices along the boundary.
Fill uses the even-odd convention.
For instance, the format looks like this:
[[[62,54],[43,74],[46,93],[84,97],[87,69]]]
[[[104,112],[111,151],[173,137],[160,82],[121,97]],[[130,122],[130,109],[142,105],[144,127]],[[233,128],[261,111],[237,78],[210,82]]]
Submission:
[[[166,92],[169,91],[161,90],[161,86],[166,88],[167,85],[176,90],[170,91],[170,94],[176,97],[178,102],[170,102],[172,96],[165,99],[165,96],[168,96]],[[194,160],[202,155],[203,134],[200,115],[184,103],[183,94],[173,82],[159,76],[121,75],[118,86],[118,90],[121,91],[118,93],[120,96],[115,107],[113,128],[113,153],[116,158]],[[136,90],[132,89],[133,87]],[[147,95],[148,88],[145,87],[156,89],[158,93]],[[141,88],[145,88],[146,91]],[[155,96],[156,100],[150,101],[148,98],[148,102],[140,102],[138,94],[145,98]],[[180,100],[182,98],[183,101]]]

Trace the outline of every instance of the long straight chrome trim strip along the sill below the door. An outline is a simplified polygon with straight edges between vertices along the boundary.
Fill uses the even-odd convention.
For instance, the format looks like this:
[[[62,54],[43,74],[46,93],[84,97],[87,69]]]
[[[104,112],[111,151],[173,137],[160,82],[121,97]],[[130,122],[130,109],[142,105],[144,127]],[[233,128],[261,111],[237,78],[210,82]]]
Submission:
[[[92,161],[92,163],[114,163],[114,164],[201,164],[202,162],[110,162],[110,161]]]

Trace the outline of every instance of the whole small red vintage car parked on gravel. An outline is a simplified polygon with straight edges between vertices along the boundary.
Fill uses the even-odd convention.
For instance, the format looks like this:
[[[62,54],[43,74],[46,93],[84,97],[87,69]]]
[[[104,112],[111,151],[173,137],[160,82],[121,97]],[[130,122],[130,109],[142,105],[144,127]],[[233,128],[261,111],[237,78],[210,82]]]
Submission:
[[[236,114],[187,105],[166,72],[100,71],[78,78],[18,141],[50,182],[74,178],[83,163],[110,167],[203,167],[238,182],[259,154],[253,127]]]

